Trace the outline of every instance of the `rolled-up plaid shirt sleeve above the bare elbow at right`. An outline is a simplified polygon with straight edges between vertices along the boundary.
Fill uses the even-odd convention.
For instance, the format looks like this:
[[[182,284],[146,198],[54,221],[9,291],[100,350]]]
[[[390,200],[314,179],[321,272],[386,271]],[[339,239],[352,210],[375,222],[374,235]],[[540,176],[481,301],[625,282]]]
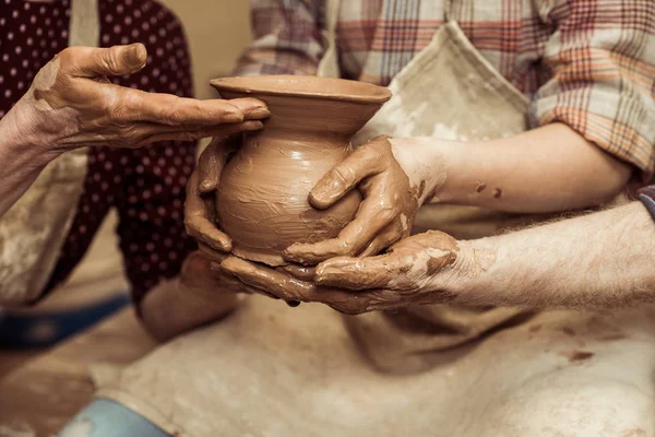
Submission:
[[[536,125],[564,122],[600,149],[655,170],[653,0],[548,0],[553,26],[543,63],[552,79],[532,108]]]

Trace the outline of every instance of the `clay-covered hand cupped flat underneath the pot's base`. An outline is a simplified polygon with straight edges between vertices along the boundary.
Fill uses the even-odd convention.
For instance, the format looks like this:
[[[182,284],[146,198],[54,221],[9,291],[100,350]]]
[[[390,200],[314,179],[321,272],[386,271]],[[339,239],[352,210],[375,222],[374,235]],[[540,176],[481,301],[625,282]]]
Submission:
[[[430,231],[396,243],[384,255],[338,257],[315,269],[271,269],[236,257],[226,258],[221,267],[265,295],[361,314],[453,300],[456,296],[446,291],[440,277],[448,277],[455,269],[458,253],[454,238]]]

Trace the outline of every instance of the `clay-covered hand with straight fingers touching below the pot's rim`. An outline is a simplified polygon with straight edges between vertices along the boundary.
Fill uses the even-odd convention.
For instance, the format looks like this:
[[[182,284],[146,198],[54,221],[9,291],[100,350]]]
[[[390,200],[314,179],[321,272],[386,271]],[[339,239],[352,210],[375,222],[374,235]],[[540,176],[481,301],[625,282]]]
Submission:
[[[226,135],[261,129],[258,120],[269,116],[265,105],[251,98],[196,101],[118,86],[107,79],[138,72],[146,57],[141,44],[67,48],[38,72],[14,106],[14,123],[34,146],[66,152]]]

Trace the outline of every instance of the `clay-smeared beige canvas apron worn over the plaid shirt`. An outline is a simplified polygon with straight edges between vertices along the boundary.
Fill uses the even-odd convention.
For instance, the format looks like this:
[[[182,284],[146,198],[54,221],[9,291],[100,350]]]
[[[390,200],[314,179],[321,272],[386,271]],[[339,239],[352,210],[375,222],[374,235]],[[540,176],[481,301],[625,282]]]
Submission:
[[[335,67],[326,59],[321,72]],[[413,86],[417,74],[420,87]],[[366,135],[398,134],[401,127],[403,134],[439,133],[421,125],[427,114],[442,131],[467,138],[525,129],[527,102],[454,22],[436,33],[392,88],[394,98]],[[425,90],[439,99],[426,102]],[[462,214],[480,221],[477,211]],[[517,315],[433,306],[344,323],[320,304],[289,308],[253,296],[227,319],[106,371],[97,395],[190,437],[653,435],[652,309],[612,319],[545,312],[474,341]],[[592,355],[575,355],[579,350]],[[585,434],[570,434],[577,429]]]

